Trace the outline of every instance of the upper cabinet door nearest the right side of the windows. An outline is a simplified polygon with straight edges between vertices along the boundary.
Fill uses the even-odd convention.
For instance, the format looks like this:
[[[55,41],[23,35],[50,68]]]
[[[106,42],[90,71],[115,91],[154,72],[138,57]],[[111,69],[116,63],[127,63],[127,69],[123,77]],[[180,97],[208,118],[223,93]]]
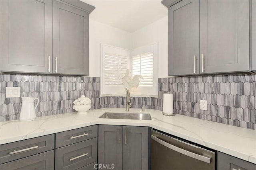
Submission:
[[[168,11],[168,75],[199,73],[199,0],[183,0]]]

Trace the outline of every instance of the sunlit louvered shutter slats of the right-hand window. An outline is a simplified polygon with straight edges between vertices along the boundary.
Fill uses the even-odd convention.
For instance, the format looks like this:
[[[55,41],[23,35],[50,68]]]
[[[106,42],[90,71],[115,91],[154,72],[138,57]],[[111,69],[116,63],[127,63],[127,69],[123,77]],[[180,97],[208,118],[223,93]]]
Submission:
[[[132,76],[138,74],[144,78],[140,80],[140,86],[153,86],[153,55],[153,52],[148,52],[132,57]]]

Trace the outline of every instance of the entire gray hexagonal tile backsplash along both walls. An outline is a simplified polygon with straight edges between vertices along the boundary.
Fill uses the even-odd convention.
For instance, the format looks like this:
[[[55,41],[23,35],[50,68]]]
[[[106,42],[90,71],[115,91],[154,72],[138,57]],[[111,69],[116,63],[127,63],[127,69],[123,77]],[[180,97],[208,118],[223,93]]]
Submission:
[[[100,97],[99,77],[0,74],[0,121],[19,119],[21,98],[5,98],[6,87],[40,99],[37,116],[73,112],[73,101],[85,95],[91,109],[125,108],[125,97]],[[174,95],[174,112],[256,130],[256,75],[190,76],[158,79],[159,98],[134,97],[132,108],[162,110],[163,94]],[[200,110],[200,100],[208,110]]]

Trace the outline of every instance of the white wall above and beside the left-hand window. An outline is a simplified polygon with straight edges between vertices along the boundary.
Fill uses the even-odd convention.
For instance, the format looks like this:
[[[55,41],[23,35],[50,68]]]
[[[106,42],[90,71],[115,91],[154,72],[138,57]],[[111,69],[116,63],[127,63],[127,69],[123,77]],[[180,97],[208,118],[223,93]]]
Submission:
[[[131,37],[131,33],[89,20],[89,76],[100,77],[101,43],[131,49]]]

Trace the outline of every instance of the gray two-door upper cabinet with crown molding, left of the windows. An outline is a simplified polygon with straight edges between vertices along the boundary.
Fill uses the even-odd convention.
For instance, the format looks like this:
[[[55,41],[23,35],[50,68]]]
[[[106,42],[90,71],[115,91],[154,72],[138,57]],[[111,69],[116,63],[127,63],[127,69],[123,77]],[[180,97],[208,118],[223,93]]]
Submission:
[[[88,75],[94,8],[79,0],[0,0],[0,71]]]

